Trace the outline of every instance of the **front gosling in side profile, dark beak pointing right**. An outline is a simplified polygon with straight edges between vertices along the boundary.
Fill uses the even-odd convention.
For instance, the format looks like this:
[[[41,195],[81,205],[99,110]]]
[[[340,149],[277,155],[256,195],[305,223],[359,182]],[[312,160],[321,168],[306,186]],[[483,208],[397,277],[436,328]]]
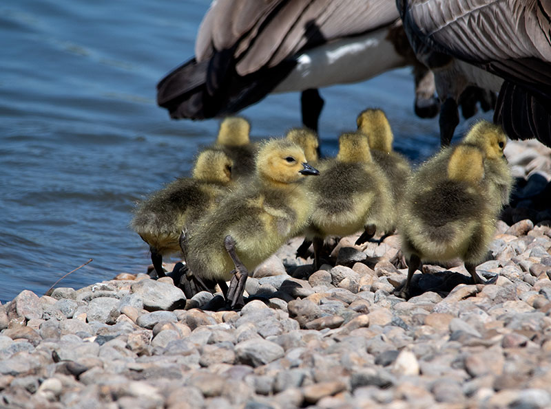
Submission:
[[[301,182],[318,174],[300,146],[285,139],[264,143],[250,183],[227,195],[191,230],[191,274],[219,283],[231,280],[225,298],[231,308],[242,306],[248,271],[306,225],[311,199]]]

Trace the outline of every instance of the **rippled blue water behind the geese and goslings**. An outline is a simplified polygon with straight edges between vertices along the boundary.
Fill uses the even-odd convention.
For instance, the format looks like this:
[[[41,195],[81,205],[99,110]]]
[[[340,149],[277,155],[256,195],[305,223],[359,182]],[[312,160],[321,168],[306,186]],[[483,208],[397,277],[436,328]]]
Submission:
[[[145,272],[147,245],[129,230],[133,203],[185,175],[218,121],[172,121],[155,85],[193,55],[208,1],[24,0],[0,5],[0,300],[39,296],[120,272]],[[413,78],[398,69],[323,89],[322,150],[385,109],[397,150],[419,160],[438,146],[437,120],[413,113]],[[243,114],[256,137],[300,125],[298,93]],[[464,130],[465,124],[459,128]]]

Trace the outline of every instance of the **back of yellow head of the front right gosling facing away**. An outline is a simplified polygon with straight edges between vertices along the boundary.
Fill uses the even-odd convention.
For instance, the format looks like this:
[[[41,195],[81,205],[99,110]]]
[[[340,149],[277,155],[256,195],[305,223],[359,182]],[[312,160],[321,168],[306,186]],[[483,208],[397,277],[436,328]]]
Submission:
[[[476,183],[484,177],[484,153],[478,146],[459,144],[448,162],[448,177]]]

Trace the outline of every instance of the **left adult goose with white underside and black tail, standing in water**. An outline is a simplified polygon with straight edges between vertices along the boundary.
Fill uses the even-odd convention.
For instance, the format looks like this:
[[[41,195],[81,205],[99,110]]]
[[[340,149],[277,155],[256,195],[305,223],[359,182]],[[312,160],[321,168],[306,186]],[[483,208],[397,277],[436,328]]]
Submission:
[[[318,130],[319,87],[415,66],[417,115],[439,109],[433,76],[415,59],[393,0],[218,0],[195,56],[157,85],[171,118],[230,115],[271,92],[302,91],[302,122]]]

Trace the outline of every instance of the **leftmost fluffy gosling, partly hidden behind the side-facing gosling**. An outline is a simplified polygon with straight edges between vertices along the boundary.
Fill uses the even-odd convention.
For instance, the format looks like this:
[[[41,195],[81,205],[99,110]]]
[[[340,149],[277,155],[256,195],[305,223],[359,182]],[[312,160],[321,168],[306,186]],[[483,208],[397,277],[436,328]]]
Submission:
[[[220,149],[202,151],[193,177],[181,177],[137,204],[130,227],[149,244],[159,277],[165,276],[163,256],[180,253],[180,233],[207,212],[231,185],[233,162]]]

